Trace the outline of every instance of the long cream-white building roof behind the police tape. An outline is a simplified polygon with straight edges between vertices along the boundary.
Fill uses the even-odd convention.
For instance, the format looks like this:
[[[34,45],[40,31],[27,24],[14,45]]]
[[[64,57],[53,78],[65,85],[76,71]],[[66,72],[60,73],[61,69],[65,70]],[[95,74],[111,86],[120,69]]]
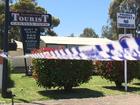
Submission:
[[[87,37],[85,38],[85,37],[40,36],[40,39],[46,44],[97,45],[112,42],[107,38],[87,38]]]

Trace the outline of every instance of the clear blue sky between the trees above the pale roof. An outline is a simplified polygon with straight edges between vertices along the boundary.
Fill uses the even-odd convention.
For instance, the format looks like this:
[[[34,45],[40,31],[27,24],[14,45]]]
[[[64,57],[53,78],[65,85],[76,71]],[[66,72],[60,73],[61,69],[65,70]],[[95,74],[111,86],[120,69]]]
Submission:
[[[107,24],[111,0],[37,0],[49,14],[58,17],[60,24],[53,30],[58,36],[79,36],[84,28],[92,28],[101,36]]]

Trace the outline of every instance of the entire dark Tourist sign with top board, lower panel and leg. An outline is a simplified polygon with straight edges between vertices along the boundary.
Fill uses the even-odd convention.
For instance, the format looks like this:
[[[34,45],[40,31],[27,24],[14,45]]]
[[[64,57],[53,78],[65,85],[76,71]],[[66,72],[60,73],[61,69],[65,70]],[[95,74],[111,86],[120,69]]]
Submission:
[[[27,17],[29,19],[26,19]],[[25,55],[31,53],[32,49],[39,48],[40,27],[51,27],[52,16],[50,14],[10,12],[10,25],[21,27],[23,52]],[[28,75],[26,58],[24,58],[24,62],[26,75]]]

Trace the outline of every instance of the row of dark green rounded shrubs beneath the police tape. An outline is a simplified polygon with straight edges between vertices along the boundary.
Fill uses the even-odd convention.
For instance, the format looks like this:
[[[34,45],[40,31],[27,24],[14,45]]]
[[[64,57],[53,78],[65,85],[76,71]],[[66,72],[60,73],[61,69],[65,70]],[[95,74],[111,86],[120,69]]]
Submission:
[[[52,50],[42,49],[41,51]],[[38,50],[37,52],[40,52]],[[134,78],[140,79],[139,61],[127,62],[127,81]],[[85,60],[33,60],[33,77],[39,86],[45,88],[58,87],[69,91],[72,87],[88,82],[96,71],[97,75],[115,82],[117,87],[121,87],[124,82],[124,62],[123,61],[92,61]]]

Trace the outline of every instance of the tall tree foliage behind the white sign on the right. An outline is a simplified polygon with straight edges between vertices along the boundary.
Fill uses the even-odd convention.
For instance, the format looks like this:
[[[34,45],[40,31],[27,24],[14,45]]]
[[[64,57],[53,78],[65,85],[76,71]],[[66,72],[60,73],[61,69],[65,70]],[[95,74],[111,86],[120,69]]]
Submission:
[[[102,36],[109,39],[118,39],[119,34],[123,34],[123,29],[117,28],[117,12],[127,12],[136,14],[136,29],[139,30],[140,24],[140,1],[139,0],[112,0],[109,8],[109,25],[103,26]],[[135,29],[127,29],[127,33],[133,35],[137,31]]]

